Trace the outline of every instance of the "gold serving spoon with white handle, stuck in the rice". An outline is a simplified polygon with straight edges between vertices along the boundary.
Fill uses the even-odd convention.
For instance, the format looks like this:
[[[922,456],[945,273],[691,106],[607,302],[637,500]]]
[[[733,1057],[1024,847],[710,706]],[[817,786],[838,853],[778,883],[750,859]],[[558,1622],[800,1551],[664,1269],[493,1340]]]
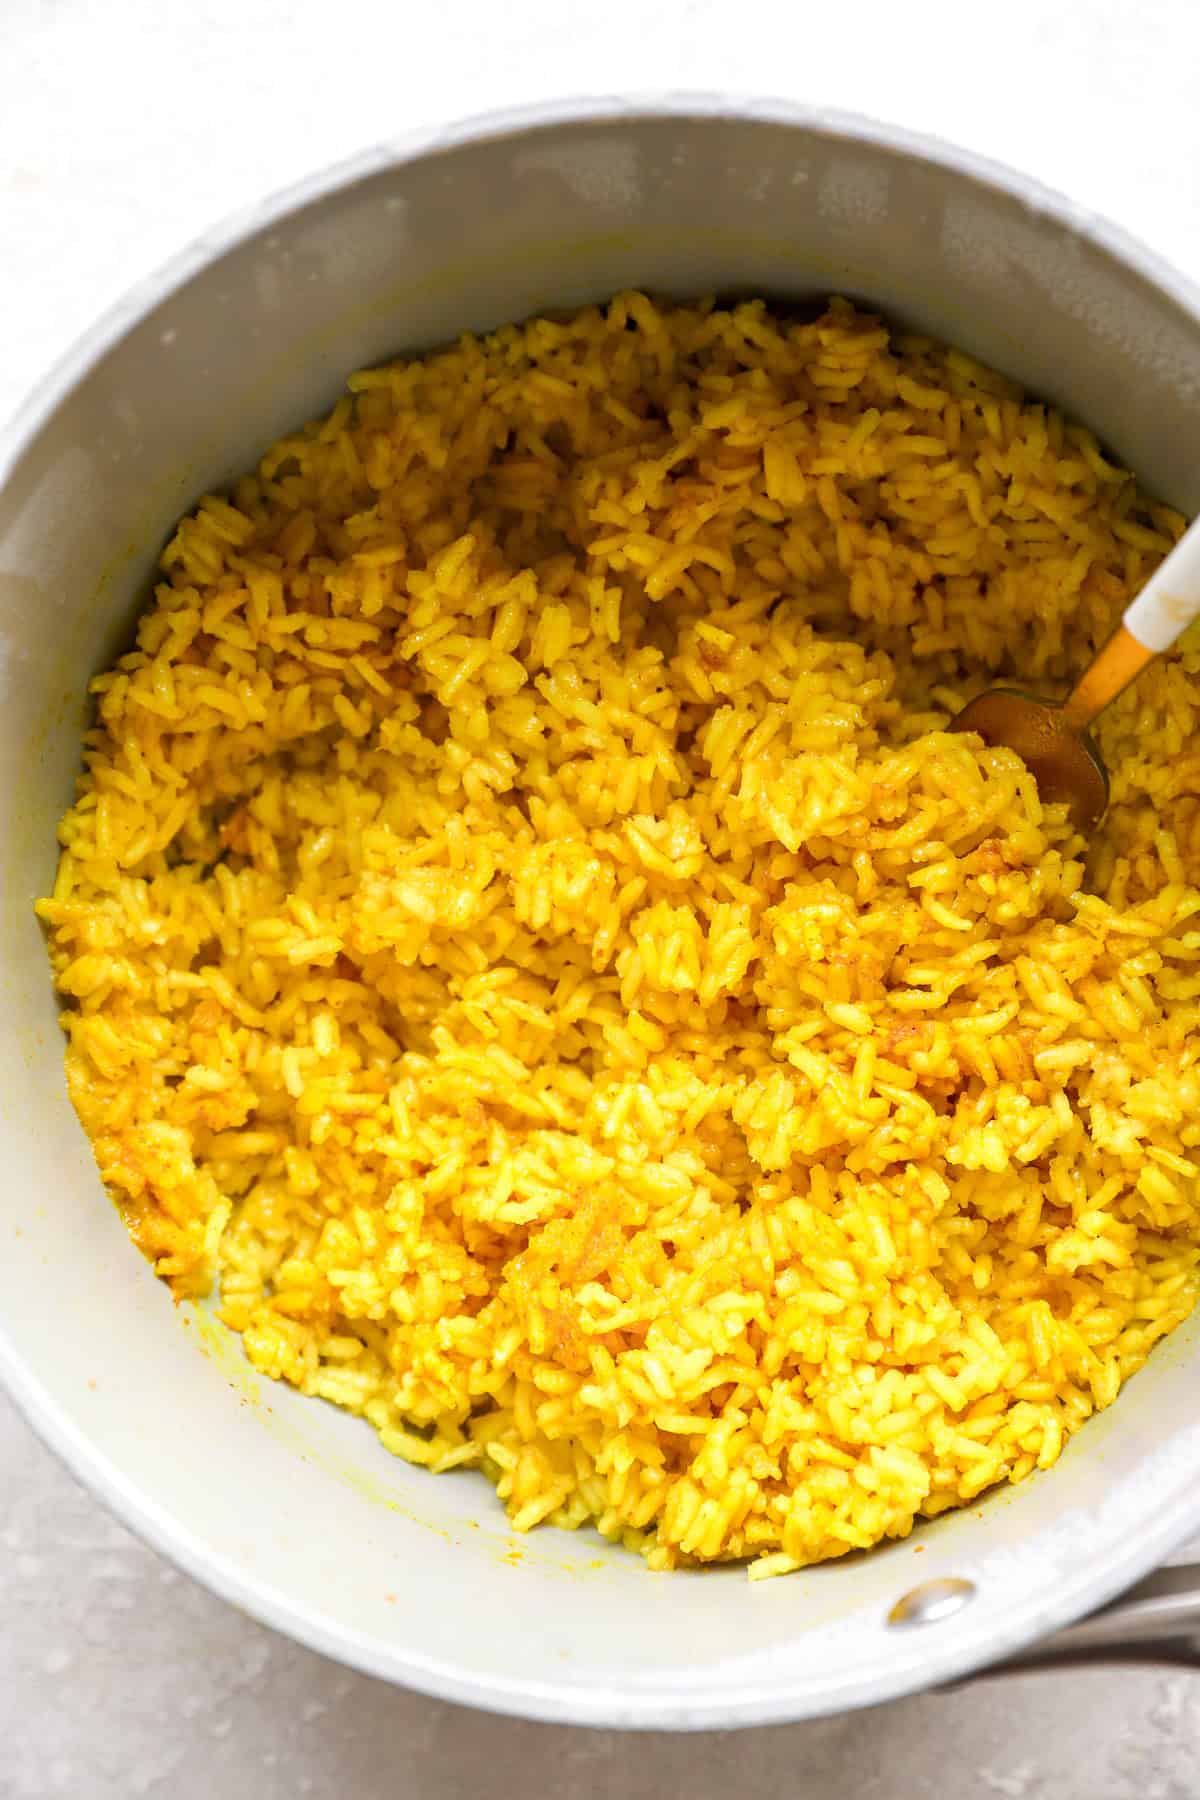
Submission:
[[[1042,700],[1022,688],[988,688],[968,700],[950,729],[975,731],[984,743],[1016,751],[1042,799],[1065,799],[1076,826],[1090,832],[1108,806],[1108,770],[1088,725],[1196,617],[1200,520],[1159,563],[1065,700]]]

